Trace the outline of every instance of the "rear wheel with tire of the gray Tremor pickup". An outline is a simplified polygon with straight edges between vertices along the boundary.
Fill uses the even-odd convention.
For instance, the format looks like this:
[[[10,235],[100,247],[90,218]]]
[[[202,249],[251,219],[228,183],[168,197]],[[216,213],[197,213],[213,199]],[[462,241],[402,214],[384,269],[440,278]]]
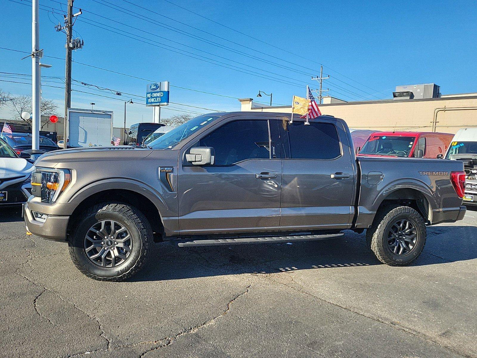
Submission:
[[[378,210],[366,230],[366,242],[376,258],[390,266],[414,262],[424,249],[425,222],[408,206],[385,206]]]

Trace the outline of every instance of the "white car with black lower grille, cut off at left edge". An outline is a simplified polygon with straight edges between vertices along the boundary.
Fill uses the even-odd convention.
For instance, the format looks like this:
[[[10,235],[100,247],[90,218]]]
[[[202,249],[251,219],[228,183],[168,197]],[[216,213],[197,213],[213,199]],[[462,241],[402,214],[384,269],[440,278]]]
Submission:
[[[22,204],[28,199],[33,168],[0,139],[0,206]]]

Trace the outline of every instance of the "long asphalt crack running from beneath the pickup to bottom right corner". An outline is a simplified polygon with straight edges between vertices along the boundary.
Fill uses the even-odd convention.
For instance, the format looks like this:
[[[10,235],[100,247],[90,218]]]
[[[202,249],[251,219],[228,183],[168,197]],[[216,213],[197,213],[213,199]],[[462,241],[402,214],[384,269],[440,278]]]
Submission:
[[[279,273],[280,273],[280,272],[279,272]],[[344,310],[346,310],[346,311],[348,311],[348,312],[350,312],[350,313],[353,313],[353,314],[355,314],[355,315],[363,316],[363,317],[365,317],[365,318],[372,319],[373,321],[376,321],[376,322],[379,322],[379,323],[383,323],[383,324],[385,324],[385,325],[387,325],[387,326],[391,326],[391,327],[393,327],[393,328],[395,328],[395,329],[399,329],[400,331],[403,331],[403,332],[405,332],[405,333],[412,334],[412,335],[415,336],[415,337],[424,339],[424,340],[426,340],[426,341],[428,341],[428,342],[430,342],[430,343],[436,344],[436,345],[439,346],[439,347],[446,348],[446,349],[448,349],[448,350],[450,350],[450,351],[452,351],[452,352],[454,352],[454,353],[456,353],[456,354],[459,354],[459,355],[461,355],[461,356],[463,356],[463,357],[473,358],[473,356],[471,356],[471,355],[468,355],[468,354],[463,353],[463,352],[459,352],[459,351],[456,350],[455,348],[449,347],[449,346],[447,346],[446,344],[441,344],[440,342],[437,342],[437,341],[436,341],[435,339],[433,339],[432,337],[426,336],[425,334],[423,334],[423,333],[421,333],[421,332],[417,332],[417,331],[415,331],[415,330],[412,329],[412,328],[409,328],[409,327],[400,325],[398,322],[388,321],[388,320],[385,320],[384,318],[381,318],[381,317],[366,315],[366,314],[364,314],[363,312],[358,312],[358,311],[353,310],[353,309],[351,309],[351,308],[349,308],[349,307],[344,307],[344,306],[342,306],[342,305],[338,305],[338,304],[336,304],[336,303],[327,301],[327,300],[325,300],[324,298],[319,297],[319,296],[317,296],[317,295],[313,295],[313,294],[311,294],[310,292],[305,291],[305,290],[304,290],[305,287],[304,287],[302,284],[296,282],[295,279],[293,278],[293,276],[291,276],[291,275],[290,275],[291,282],[294,283],[294,284],[297,284],[298,286],[300,286],[301,289],[299,289],[299,288],[297,288],[297,287],[293,287],[293,286],[291,286],[290,284],[283,283],[283,282],[279,282],[279,281],[276,281],[276,280],[272,279],[272,278],[271,278],[272,274],[252,274],[252,275],[257,276],[257,277],[260,277],[260,276],[261,276],[261,277],[263,277],[263,278],[265,278],[265,279],[267,279],[267,280],[269,280],[269,281],[271,281],[271,282],[274,282],[274,283],[276,283],[276,284],[280,284],[280,285],[282,285],[282,286],[286,286],[286,287],[291,288],[292,290],[297,291],[297,292],[299,292],[299,293],[301,293],[301,294],[303,294],[303,295],[308,295],[308,296],[310,296],[310,297],[316,298],[316,299],[318,299],[318,300],[320,300],[320,301],[322,301],[322,302],[324,302],[324,303],[327,303],[327,304],[329,304],[329,305],[333,305],[333,306],[338,307],[338,308],[342,308],[342,309],[344,309]]]

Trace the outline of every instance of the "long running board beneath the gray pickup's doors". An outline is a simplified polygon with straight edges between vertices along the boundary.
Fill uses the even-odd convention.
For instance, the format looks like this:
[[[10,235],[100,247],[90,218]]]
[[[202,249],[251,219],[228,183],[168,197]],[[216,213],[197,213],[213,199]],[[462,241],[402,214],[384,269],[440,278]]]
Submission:
[[[213,245],[239,245],[244,243],[271,243],[271,242],[297,242],[327,240],[344,235],[344,232],[327,235],[297,235],[297,236],[268,236],[268,237],[243,237],[238,239],[207,239],[207,240],[171,240],[179,247],[213,246]]]

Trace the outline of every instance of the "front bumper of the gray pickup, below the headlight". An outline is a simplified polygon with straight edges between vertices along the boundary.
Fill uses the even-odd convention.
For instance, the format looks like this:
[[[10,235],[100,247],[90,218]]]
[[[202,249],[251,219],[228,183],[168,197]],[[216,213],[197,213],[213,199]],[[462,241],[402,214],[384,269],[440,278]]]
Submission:
[[[28,202],[23,206],[23,218],[27,230],[33,235],[46,240],[66,241],[69,216],[47,215],[44,222],[36,220],[28,207]]]

